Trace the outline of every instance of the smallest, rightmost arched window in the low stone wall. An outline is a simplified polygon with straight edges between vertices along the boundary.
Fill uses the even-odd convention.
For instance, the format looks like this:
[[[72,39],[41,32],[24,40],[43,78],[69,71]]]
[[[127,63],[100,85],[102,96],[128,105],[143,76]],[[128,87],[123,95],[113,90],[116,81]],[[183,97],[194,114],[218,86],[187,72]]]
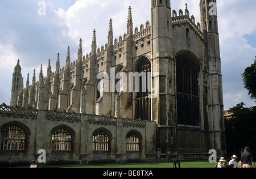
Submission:
[[[130,133],[126,136],[126,152],[141,153],[141,137],[137,133]]]

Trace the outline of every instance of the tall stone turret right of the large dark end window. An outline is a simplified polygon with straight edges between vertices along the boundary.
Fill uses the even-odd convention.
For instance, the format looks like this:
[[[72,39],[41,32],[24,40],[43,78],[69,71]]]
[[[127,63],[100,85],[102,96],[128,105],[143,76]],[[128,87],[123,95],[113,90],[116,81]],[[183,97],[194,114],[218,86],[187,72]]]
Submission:
[[[207,45],[208,118],[212,148],[225,155],[224,105],[216,0],[201,0],[201,25]]]

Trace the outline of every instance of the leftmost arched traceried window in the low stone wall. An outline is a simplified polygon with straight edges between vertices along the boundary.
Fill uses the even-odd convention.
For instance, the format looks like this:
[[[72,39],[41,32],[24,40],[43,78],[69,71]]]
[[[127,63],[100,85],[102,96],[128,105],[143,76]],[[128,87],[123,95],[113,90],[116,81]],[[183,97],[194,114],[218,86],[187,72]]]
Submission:
[[[27,148],[27,132],[19,125],[10,124],[1,129],[1,153],[24,153]]]

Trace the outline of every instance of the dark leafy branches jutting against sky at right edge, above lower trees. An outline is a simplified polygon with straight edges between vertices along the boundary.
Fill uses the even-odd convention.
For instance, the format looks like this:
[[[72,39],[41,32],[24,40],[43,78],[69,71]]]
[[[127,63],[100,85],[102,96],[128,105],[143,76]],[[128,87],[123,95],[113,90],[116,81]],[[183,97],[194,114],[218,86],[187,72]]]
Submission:
[[[255,99],[256,101],[256,56],[254,60],[254,64],[247,67],[245,72],[242,74],[243,84],[245,88],[249,91],[249,95],[251,99]]]

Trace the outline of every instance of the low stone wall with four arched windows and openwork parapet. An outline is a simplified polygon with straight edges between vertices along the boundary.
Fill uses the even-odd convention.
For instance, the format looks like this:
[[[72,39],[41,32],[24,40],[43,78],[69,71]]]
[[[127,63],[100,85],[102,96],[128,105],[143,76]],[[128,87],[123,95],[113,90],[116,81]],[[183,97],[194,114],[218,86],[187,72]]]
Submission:
[[[155,161],[156,123],[0,105],[1,164]]]

